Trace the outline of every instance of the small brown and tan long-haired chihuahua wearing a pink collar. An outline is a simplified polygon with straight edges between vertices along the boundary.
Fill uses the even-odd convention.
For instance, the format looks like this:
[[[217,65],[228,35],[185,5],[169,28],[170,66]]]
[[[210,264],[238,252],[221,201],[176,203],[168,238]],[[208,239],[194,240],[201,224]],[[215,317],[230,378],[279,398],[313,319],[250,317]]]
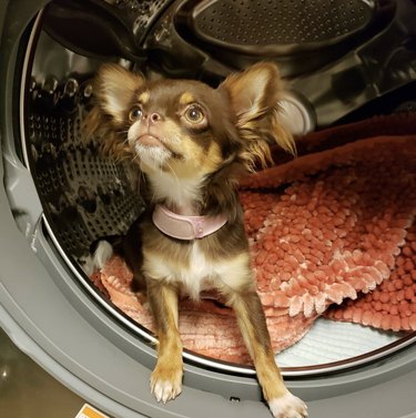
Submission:
[[[195,80],[148,81],[103,64],[93,92],[87,135],[136,164],[145,184],[146,211],[121,246],[155,320],[158,360],[150,386],[156,400],[166,402],[182,390],[180,297],[199,299],[214,289],[235,312],[273,416],[306,417],[305,404],[285,387],[275,363],[237,193],[243,174],[272,161],[270,144],[295,152],[280,123],[277,67],[261,62],[212,88]],[[100,242],[97,264],[112,252]]]

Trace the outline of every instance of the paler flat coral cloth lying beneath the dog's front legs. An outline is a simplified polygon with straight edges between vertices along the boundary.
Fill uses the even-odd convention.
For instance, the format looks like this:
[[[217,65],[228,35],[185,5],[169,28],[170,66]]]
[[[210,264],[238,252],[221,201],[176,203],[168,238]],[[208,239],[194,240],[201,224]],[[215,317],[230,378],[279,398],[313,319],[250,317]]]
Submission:
[[[149,330],[154,329],[149,306],[142,304],[131,289],[133,275],[119,256],[113,256],[95,273],[103,293],[125,315]],[[281,350],[300,339],[312,326],[315,317],[287,317],[286,308],[266,310],[267,327],[274,349]],[[250,356],[237,328],[232,309],[222,307],[211,299],[196,303],[183,299],[180,304],[179,328],[185,349],[200,355],[240,364],[248,364]]]

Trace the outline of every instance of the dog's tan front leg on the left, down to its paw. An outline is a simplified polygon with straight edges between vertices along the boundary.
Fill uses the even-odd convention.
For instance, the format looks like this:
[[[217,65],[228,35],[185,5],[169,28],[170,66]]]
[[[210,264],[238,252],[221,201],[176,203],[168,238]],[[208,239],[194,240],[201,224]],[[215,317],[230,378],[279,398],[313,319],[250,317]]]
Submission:
[[[182,391],[182,341],[177,330],[177,292],[155,279],[148,281],[148,298],[159,338],[158,361],[150,386],[158,401],[166,402]]]

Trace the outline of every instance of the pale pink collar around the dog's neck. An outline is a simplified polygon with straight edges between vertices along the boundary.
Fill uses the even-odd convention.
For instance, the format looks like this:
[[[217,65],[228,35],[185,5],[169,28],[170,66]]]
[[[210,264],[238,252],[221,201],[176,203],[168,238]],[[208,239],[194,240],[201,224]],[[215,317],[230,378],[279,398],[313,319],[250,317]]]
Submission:
[[[200,239],[213,234],[226,224],[225,215],[184,216],[171,212],[164,205],[156,205],[153,223],[164,234],[177,239]]]

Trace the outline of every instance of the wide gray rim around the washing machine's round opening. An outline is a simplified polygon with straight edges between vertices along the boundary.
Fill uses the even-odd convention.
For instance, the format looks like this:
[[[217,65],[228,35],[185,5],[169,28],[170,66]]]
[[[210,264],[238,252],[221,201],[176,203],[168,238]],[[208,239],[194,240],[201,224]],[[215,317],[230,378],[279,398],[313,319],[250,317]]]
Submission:
[[[181,396],[158,404],[149,390],[154,348],[74,279],[71,261],[57,249],[17,146],[27,45],[45,6],[0,1],[1,327],[48,373],[111,416],[270,417],[252,373],[203,367],[192,356]],[[311,417],[416,417],[416,345],[351,369],[287,376],[286,381],[307,402]]]

